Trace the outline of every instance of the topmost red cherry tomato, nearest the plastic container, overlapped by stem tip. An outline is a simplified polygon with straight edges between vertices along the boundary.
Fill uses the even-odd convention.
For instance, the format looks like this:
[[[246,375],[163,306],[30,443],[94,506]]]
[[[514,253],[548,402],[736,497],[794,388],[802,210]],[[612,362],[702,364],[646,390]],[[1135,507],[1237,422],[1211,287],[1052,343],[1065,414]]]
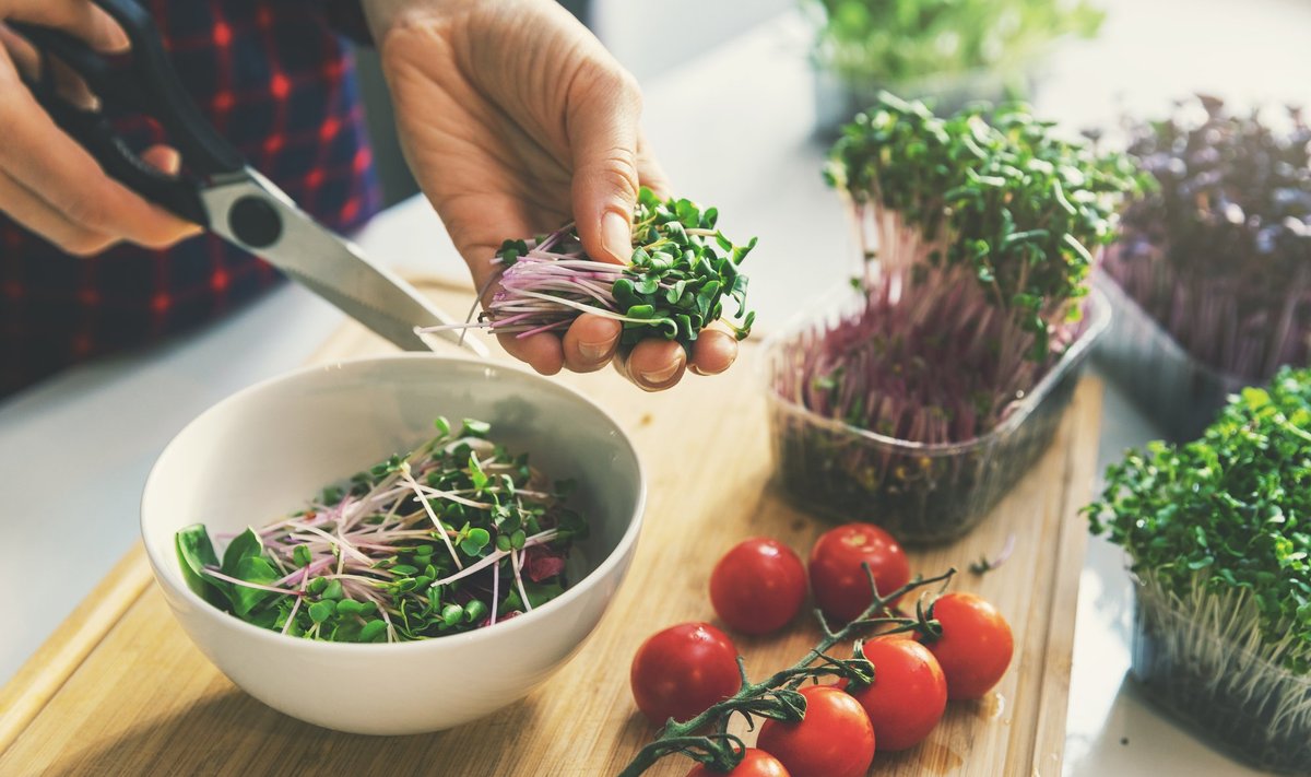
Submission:
[[[825,532],[810,549],[810,592],[830,618],[856,618],[873,601],[868,563],[881,595],[910,580],[906,551],[893,536],[873,524],[847,524]]]

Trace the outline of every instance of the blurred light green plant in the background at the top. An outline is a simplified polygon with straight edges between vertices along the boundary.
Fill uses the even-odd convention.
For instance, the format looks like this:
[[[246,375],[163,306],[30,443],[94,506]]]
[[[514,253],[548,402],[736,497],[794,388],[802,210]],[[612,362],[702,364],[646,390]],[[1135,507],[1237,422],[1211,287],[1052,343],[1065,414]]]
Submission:
[[[1024,97],[1033,63],[1061,37],[1096,35],[1104,17],[1088,0],[805,0],[805,8],[825,133],[882,89],[933,98],[944,113]]]

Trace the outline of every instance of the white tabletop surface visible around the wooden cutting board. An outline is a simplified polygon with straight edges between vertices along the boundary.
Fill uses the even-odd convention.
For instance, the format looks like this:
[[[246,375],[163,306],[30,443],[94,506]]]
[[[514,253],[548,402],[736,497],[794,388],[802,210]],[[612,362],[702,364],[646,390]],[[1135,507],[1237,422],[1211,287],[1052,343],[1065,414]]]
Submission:
[[[1096,43],[1061,51],[1040,106],[1083,126],[1124,105],[1159,110],[1190,89],[1307,98],[1311,8],[1291,0],[1112,0]],[[784,17],[646,84],[646,125],[680,193],[714,203],[733,235],[759,235],[754,304],[770,327],[842,282],[846,220],[818,176],[806,30]],[[461,277],[422,200],[358,240],[406,272]],[[0,681],[8,679],[136,538],[151,462],[202,410],[299,366],[342,316],[281,289],[208,329],[102,360],[0,403]],[[696,379],[690,377],[688,379]],[[641,402],[641,394],[633,394]],[[1156,430],[1108,387],[1101,459]],[[1253,773],[1159,717],[1127,684],[1129,581],[1092,541],[1079,597],[1065,774]]]

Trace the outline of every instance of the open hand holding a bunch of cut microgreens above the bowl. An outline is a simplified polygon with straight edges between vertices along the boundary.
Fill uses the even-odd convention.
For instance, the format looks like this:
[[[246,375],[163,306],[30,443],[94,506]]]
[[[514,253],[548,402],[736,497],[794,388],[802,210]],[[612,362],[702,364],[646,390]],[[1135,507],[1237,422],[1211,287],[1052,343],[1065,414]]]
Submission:
[[[591,33],[549,0],[366,0],[364,10],[409,164],[480,289],[503,240],[570,219],[591,257],[628,262],[637,188],[659,192],[665,178],[641,138],[633,77]],[[540,373],[582,373],[614,358],[619,335],[617,322],[583,315],[564,337],[501,343]],[[708,329],[690,369],[721,373],[735,356],[732,335]],[[676,343],[657,340],[616,365],[646,390],[688,369]]]

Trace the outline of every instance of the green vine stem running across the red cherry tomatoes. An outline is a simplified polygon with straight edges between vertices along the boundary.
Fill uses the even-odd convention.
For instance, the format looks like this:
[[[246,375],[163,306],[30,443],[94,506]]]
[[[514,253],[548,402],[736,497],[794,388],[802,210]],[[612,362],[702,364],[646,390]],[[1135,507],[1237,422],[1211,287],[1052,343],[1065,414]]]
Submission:
[[[746,663],[738,656],[738,671],[742,675],[742,688],[732,697],[711,705],[705,711],[684,722],[670,719],[656,735],[656,739],[642,747],[632,763],[619,773],[619,777],[636,777],[656,765],[665,756],[682,753],[718,772],[732,772],[746,749],[746,743],[735,734],[729,734],[733,715],[742,715],[749,728],[755,727],[755,718],[772,718],[793,723],[806,717],[806,698],[797,690],[808,680],[818,682],[821,677],[838,677],[848,682],[848,688],[859,690],[874,681],[874,665],[861,652],[864,638],[884,637],[918,631],[927,639],[943,635],[941,623],[933,620],[933,606],[926,609],[923,600],[915,605],[915,617],[891,617],[891,606],[907,593],[941,583],[945,588],[956,570],[935,578],[915,578],[890,593],[882,593],[874,584],[869,564],[861,568],[869,580],[873,601],[853,621],[838,629],[830,627],[823,613],[814,610],[823,638],[792,667],[770,675],[759,682],[751,682],[746,675]],[[830,655],[839,644],[852,644],[853,658]],[[709,731],[708,731],[709,730]]]

